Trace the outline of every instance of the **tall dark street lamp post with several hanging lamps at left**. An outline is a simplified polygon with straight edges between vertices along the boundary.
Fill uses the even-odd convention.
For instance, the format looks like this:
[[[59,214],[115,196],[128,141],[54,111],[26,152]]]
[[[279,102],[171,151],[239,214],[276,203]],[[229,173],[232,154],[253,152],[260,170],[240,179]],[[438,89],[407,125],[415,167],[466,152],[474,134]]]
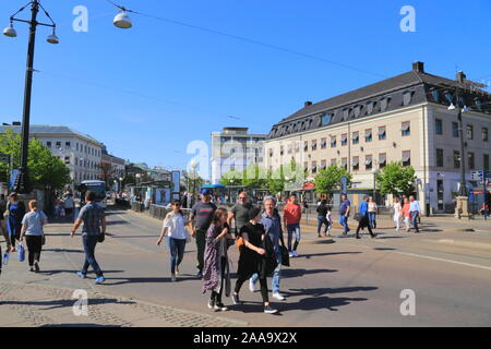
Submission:
[[[31,4],[31,21],[16,19],[15,15],[24,11],[27,5],[19,10],[10,17],[10,26],[3,31],[3,35],[8,37],[16,37],[17,34],[13,28],[13,22],[23,22],[31,25],[29,29],[29,41],[27,48],[27,68],[25,74],[25,89],[24,89],[24,110],[22,117],[22,146],[21,146],[21,168],[17,177],[15,178],[14,191],[21,194],[27,194],[31,192],[31,183],[27,172],[27,155],[28,155],[28,144],[29,144],[29,119],[31,119],[31,95],[33,89],[33,72],[34,72],[34,49],[36,44],[36,27],[38,25],[52,27],[52,34],[48,36],[47,41],[49,44],[59,44],[59,39],[56,35],[56,24],[51,20],[51,16],[46,12],[39,0],[33,0]],[[45,24],[37,22],[37,14],[41,9],[46,16],[51,21],[51,24]]]

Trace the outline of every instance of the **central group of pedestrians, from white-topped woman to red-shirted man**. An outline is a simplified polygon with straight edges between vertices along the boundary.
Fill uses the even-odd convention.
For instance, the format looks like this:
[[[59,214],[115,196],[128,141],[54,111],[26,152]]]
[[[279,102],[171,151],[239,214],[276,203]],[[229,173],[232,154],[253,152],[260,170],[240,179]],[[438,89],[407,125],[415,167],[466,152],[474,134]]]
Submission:
[[[192,207],[189,220],[185,220],[180,209],[180,202],[176,201],[172,203],[172,210],[164,219],[157,245],[161,244],[165,237],[168,238],[171,281],[177,280],[185,243],[193,237],[197,249],[196,277],[203,280],[203,292],[211,292],[207,302],[209,309],[228,310],[223,302],[224,294],[231,297],[233,304],[242,304],[239,292],[249,280],[252,292],[255,291],[255,284],[260,284],[264,312],[276,313],[277,310],[270,304],[266,278],[273,278],[273,298],[285,300],[285,296],[279,292],[283,253],[288,251],[290,256],[298,256],[300,205],[292,196],[285,210],[284,224],[289,237],[287,249],[282,217],[273,196],[264,200],[264,209],[252,205],[247,192],[239,194],[239,202],[230,210],[218,208],[212,203],[212,192],[203,190],[201,201]],[[187,231],[187,226],[190,232]],[[233,291],[228,256],[228,249],[232,245],[239,249],[238,279]]]

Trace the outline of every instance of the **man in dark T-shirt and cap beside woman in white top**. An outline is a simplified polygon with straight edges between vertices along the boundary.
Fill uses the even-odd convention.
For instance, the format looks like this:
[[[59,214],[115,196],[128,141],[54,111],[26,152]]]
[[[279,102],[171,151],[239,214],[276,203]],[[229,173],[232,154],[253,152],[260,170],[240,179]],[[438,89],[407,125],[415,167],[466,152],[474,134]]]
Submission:
[[[212,224],[213,215],[215,214],[216,206],[212,203],[212,191],[203,189],[201,192],[201,202],[194,204],[191,210],[191,236],[196,239],[197,249],[197,262],[196,277],[201,279],[203,277],[204,268],[204,251],[206,246],[206,231]],[[194,221],[195,220],[195,221]]]

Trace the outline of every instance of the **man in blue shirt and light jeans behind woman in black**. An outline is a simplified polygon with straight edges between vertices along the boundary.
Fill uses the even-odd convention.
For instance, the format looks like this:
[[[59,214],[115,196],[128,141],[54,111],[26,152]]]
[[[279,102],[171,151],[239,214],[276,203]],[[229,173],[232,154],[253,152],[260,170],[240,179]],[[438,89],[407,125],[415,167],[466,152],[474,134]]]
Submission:
[[[270,236],[273,242],[276,261],[278,263],[276,269],[273,272],[272,290],[273,297],[277,300],[285,300],[285,296],[279,293],[279,277],[282,273],[282,250],[279,249],[279,242],[282,246],[285,246],[285,240],[283,239],[282,219],[277,213],[275,213],[276,201],[273,196],[267,196],[264,200],[264,213],[261,224],[264,226],[264,230]],[[255,289],[255,281],[258,281],[259,275],[254,274],[251,277],[249,288],[251,291]]]

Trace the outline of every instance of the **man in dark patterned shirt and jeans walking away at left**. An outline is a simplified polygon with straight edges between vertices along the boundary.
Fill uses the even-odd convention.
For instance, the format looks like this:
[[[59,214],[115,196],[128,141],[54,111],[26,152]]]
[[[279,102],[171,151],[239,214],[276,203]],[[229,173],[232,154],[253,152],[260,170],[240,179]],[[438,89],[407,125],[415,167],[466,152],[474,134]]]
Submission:
[[[100,236],[106,233],[106,217],[104,208],[95,203],[96,195],[92,191],[85,193],[85,206],[82,207],[79,214],[79,218],[73,224],[73,228],[70,231],[70,237],[73,238],[76,229],[84,224],[82,228],[82,243],[85,252],[85,263],[82,270],[76,274],[81,278],[86,278],[88,266],[92,266],[97,275],[95,284],[103,284],[106,278],[100,270],[99,264],[95,258],[95,248],[100,239]]]

